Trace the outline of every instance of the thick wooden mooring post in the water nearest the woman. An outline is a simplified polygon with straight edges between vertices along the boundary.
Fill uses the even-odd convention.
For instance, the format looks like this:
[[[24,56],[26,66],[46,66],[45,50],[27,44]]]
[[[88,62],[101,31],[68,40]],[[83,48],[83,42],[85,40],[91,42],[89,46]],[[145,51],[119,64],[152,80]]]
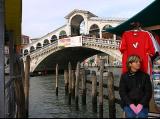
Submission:
[[[108,72],[107,82],[108,82],[107,86],[108,86],[109,118],[116,118],[114,77],[112,72]]]

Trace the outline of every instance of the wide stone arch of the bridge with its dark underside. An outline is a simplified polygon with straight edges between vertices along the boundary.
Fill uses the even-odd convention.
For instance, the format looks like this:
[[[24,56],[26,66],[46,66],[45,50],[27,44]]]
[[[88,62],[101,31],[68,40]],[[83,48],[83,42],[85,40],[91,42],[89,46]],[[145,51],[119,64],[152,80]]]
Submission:
[[[67,67],[68,62],[72,62],[73,67],[76,66],[77,61],[84,61],[86,58],[89,58],[93,55],[99,54],[99,53],[105,53],[108,55],[113,56],[113,52],[110,50],[105,50],[103,48],[97,48],[93,46],[82,46],[82,47],[72,47],[72,48],[58,48],[55,51],[48,52],[47,54],[44,54],[36,59],[36,61],[31,61],[31,72],[37,70],[37,69],[43,69],[44,65],[46,67],[50,67],[49,69],[56,66],[56,63],[62,65],[64,67]],[[61,55],[60,55],[61,54]],[[113,56],[114,57],[114,56]],[[62,69],[62,68],[61,68]]]

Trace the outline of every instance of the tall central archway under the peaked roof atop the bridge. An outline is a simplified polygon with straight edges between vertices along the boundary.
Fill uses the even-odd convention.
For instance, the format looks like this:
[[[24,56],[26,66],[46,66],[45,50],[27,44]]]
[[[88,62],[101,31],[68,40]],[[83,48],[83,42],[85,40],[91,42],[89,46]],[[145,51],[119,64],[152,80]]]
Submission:
[[[75,15],[71,19],[71,36],[79,36],[84,34],[84,18],[81,15]]]

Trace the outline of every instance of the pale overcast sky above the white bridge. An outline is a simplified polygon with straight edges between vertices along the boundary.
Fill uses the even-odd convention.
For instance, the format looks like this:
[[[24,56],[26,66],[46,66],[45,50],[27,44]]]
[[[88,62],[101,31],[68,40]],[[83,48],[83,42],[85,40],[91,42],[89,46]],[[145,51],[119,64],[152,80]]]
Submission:
[[[22,33],[37,38],[61,27],[74,9],[98,17],[130,18],[154,0],[23,0]]]

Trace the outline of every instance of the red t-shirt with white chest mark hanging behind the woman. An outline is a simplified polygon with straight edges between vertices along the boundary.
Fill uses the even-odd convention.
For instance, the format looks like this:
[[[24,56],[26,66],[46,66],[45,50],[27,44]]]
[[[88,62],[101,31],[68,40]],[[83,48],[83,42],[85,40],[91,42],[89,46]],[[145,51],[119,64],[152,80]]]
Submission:
[[[141,70],[150,74],[151,64],[149,55],[155,54],[155,49],[151,37],[146,31],[126,31],[122,35],[120,43],[120,52],[122,56],[122,73],[127,71],[126,61],[130,55],[138,55],[141,58]]]

